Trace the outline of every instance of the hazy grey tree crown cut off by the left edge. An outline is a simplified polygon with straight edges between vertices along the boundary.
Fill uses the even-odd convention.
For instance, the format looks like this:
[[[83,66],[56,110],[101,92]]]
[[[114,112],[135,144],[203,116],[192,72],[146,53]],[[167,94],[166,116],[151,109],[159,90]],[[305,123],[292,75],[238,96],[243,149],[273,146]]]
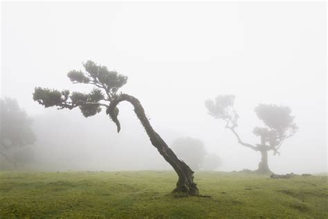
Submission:
[[[28,162],[33,153],[24,146],[35,142],[32,120],[17,100],[0,99],[0,159],[2,166],[19,166]]]

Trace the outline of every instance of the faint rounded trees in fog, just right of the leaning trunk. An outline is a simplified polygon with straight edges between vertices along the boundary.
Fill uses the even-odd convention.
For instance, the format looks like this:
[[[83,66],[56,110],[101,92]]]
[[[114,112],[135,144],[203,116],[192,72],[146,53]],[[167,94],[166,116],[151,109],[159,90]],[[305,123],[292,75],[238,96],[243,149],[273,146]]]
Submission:
[[[221,166],[221,159],[215,154],[208,155],[203,142],[190,137],[179,138],[171,145],[176,155],[194,170],[215,170]]]

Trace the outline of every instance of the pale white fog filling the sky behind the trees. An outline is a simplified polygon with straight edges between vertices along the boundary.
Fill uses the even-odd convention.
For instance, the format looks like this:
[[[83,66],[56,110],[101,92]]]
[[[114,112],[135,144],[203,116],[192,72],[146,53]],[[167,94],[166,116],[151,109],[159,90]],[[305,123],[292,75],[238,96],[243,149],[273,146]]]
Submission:
[[[275,173],[327,172],[326,3],[1,3],[1,97],[33,116],[33,170],[170,170],[131,105],[122,131],[104,112],[45,109],[35,87],[89,91],[66,73],[93,60],[129,77],[122,92],[143,104],[170,144],[203,141],[217,170],[256,169],[259,152],[237,142],[204,101],[235,94],[239,135],[262,125],[259,103],[287,105],[299,131],[268,163]]]

